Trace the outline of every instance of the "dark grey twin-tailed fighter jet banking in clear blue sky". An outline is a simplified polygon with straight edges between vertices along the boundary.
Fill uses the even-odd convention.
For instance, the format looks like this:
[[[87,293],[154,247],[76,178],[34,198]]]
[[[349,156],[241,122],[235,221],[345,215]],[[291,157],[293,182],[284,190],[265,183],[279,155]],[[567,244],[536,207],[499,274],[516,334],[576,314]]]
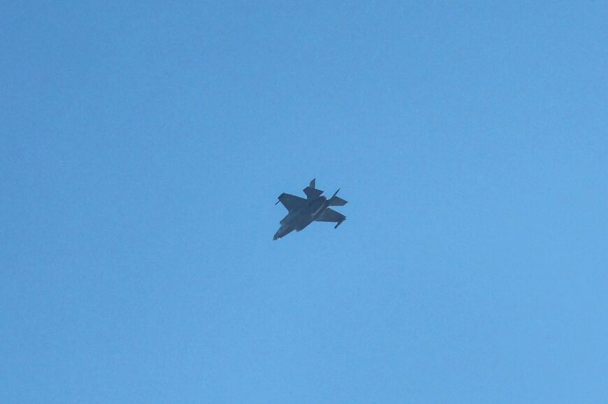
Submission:
[[[289,195],[289,193],[279,195],[277,203],[281,202],[289,213],[280,221],[281,227],[275,233],[273,240],[285,237],[294,230],[299,232],[314,221],[335,222],[336,225],[333,228],[338,227],[346,220],[346,216],[339,214],[333,209],[329,209],[329,207],[341,207],[347,204],[347,201],[335,196],[338,195],[338,190],[335,191],[335,194],[331,198],[327,199],[321,195],[323,193],[322,190],[314,188],[313,179],[310,181],[310,186],[304,188],[306,199],[296,195]]]

